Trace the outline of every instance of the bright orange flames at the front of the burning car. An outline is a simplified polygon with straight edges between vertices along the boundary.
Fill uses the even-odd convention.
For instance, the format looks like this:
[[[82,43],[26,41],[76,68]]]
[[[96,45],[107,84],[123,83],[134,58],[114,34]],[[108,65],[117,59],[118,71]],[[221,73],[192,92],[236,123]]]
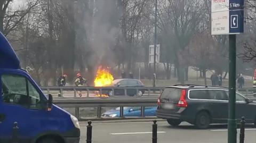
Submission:
[[[94,80],[95,87],[103,87],[111,85],[114,80],[113,75],[109,72],[108,69],[98,68],[96,78]]]

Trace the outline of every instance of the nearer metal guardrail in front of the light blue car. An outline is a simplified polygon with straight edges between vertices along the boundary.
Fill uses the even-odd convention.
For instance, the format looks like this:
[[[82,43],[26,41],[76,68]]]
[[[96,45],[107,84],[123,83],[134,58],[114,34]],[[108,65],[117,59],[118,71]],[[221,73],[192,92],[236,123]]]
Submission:
[[[145,117],[145,107],[157,106],[157,98],[58,98],[53,103],[62,108],[75,108],[75,116],[80,120],[79,108],[97,107],[97,117],[101,118],[102,107],[120,107],[120,116],[124,117],[124,107],[141,107],[141,117]]]

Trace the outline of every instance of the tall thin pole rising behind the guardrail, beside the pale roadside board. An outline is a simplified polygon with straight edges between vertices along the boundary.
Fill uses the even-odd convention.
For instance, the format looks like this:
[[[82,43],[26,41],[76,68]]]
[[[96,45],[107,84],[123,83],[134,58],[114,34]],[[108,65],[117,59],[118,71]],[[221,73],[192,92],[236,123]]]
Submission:
[[[157,0],[155,0],[155,33],[154,33],[154,77],[153,87],[156,87],[156,35],[157,35]]]

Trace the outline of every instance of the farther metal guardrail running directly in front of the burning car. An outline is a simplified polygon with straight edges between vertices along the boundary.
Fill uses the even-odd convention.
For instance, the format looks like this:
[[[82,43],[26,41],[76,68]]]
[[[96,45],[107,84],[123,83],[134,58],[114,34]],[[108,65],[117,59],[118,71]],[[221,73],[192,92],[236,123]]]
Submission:
[[[143,96],[155,95],[158,91],[158,95],[162,92],[164,87],[41,87],[42,90],[47,91],[47,94],[50,91],[59,91],[60,97],[63,97],[63,91],[74,91],[74,97],[77,97],[77,92],[86,91],[86,97],[89,97],[90,92],[98,91],[100,97],[102,97],[102,91],[112,91],[113,96],[115,96],[115,90],[124,90],[124,96],[129,96],[127,90],[136,90],[138,96],[138,91],[145,91]]]

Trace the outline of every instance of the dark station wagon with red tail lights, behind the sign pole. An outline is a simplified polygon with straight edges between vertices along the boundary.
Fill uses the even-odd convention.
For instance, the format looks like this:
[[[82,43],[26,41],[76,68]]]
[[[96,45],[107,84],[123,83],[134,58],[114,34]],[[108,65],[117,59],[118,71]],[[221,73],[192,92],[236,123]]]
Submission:
[[[236,119],[256,119],[256,103],[236,92]],[[193,85],[167,87],[158,98],[156,116],[178,126],[182,121],[207,129],[212,123],[228,121],[228,88]]]

